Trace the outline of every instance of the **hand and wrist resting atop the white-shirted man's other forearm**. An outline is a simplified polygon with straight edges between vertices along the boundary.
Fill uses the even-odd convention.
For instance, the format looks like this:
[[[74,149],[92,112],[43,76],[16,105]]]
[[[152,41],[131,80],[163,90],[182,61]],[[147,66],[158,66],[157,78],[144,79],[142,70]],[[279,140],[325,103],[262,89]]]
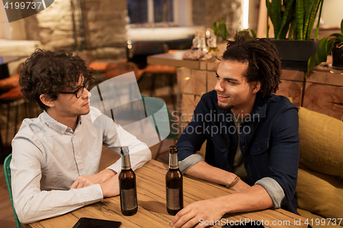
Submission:
[[[115,171],[105,168],[101,172],[94,175],[79,176],[70,188],[84,188],[86,186],[91,186],[95,183],[104,183],[105,181],[113,177],[115,174],[117,174]]]

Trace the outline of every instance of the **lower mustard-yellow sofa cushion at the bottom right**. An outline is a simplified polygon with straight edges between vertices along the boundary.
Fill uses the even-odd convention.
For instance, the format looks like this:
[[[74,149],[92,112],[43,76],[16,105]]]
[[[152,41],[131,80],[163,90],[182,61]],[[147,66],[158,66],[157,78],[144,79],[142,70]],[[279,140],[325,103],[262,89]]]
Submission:
[[[318,173],[300,166],[296,192],[299,208],[325,218],[342,218],[342,177]]]

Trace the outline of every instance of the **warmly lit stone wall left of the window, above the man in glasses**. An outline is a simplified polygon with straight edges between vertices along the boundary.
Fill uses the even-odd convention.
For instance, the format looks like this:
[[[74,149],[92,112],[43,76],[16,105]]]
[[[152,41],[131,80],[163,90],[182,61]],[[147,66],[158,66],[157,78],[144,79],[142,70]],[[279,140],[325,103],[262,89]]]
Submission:
[[[126,58],[126,1],[55,0],[25,18],[27,40],[43,49],[88,49],[94,59]]]

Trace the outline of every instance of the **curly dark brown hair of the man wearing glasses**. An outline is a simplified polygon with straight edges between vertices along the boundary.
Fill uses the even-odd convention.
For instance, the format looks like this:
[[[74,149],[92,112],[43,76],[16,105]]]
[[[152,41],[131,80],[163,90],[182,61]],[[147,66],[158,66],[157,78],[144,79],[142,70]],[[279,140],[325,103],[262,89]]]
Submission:
[[[53,101],[64,90],[75,89],[79,77],[84,81],[92,79],[92,71],[78,55],[64,51],[43,51],[36,49],[23,63],[19,74],[21,92],[29,99],[47,110],[48,106],[40,101],[40,94],[45,94]]]

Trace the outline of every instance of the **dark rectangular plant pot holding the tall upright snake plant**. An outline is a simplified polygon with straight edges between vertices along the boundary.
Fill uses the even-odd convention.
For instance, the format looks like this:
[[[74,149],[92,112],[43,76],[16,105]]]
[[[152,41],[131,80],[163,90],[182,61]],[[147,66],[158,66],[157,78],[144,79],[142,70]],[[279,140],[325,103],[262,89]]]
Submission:
[[[309,57],[320,40],[270,40],[279,51],[281,67],[287,70],[307,71]]]

